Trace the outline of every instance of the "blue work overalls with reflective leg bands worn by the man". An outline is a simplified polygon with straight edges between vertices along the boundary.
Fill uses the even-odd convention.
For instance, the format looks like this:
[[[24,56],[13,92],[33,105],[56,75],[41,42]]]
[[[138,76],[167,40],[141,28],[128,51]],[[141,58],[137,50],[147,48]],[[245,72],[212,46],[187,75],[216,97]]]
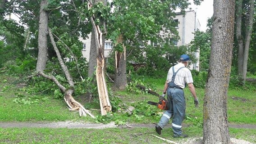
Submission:
[[[180,67],[178,71],[182,68],[183,67]],[[174,79],[178,71],[174,72],[173,67],[172,80],[168,83],[169,87],[167,89],[168,110],[164,112],[158,123],[158,125],[163,129],[169,122],[169,119],[173,116],[172,127],[174,136],[179,136],[182,134],[181,124],[186,110],[184,91],[182,88],[174,84]]]

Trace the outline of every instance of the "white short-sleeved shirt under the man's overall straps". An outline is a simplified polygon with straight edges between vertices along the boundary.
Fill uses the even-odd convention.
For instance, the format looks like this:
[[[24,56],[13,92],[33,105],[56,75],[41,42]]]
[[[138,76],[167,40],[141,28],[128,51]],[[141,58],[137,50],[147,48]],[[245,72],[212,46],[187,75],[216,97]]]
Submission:
[[[185,83],[193,83],[193,78],[190,70],[185,67],[183,63],[178,63],[177,65],[173,66],[174,72],[177,72],[180,67],[184,67],[178,71],[178,73],[175,76],[174,84],[181,87],[182,89],[185,88]],[[167,81],[168,83],[172,81],[173,76],[173,67],[169,69],[168,75],[167,75]]]

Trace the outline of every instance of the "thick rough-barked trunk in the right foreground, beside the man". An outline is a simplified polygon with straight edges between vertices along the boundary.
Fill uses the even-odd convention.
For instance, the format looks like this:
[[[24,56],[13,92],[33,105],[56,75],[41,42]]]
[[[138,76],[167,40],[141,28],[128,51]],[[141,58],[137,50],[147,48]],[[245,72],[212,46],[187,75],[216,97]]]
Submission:
[[[227,92],[232,63],[235,0],[214,0],[210,67],[204,98],[203,144],[231,144]]]

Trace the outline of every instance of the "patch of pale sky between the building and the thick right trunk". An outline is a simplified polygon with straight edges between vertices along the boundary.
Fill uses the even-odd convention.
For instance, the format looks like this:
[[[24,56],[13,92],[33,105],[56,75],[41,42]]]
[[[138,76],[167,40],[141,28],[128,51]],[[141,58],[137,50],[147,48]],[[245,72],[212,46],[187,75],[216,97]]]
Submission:
[[[192,10],[197,11],[197,18],[201,25],[201,31],[206,31],[207,19],[213,15],[213,0],[204,0],[201,5],[195,5],[193,0],[189,0]],[[197,9],[196,9],[197,8]]]

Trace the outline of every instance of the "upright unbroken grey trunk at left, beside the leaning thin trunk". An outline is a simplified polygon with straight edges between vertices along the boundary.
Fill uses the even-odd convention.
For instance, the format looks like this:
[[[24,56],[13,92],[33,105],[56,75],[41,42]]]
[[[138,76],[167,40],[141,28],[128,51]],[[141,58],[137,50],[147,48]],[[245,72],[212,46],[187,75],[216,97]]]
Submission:
[[[47,34],[48,34],[48,15],[46,8],[48,0],[42,0],[40,5],[39,29],[38,29],[38,57],[37,72],[46,69],[47,60]]]

